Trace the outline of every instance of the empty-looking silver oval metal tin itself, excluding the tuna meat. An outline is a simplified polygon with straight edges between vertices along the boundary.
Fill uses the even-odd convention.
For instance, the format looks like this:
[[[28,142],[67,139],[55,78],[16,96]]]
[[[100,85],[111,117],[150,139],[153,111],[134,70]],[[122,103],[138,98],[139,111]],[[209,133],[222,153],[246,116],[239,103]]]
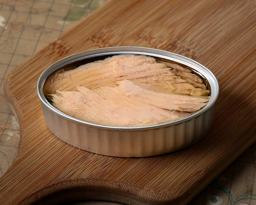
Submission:
[[[119,54],[146,55],[191,69],[209,89],[209,102],[190,116],[157,125],[119,127],[93,124],[69,116],[46,99],[46,79],[55,71]],[[86,78],[86,76],[84,76]],[[37,93],[47,127],[62,141],[92,153],[113,157],[148,157],[177,151],[209,133],[213,123],[218,81],[202,64],[178,54],[145,47],[108,47],[68,56],[46,68],[38,79]],[[106,108],[107,109],[107,108]]]

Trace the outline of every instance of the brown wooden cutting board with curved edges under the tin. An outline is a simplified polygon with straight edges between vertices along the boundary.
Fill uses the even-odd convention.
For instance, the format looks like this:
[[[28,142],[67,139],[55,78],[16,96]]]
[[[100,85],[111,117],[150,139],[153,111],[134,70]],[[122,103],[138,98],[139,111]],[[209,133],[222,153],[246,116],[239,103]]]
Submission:
[[[1,204],[188,203],[256,140],[255,34],[256,1],[109,1],[7,77],[21,143],[0,179]],[[37,96],[39,75],[65,56],[109,46],[158,48],[209,68],[220,85],[211,133],[187,149],[148,158],[106,157],[55,137]]]

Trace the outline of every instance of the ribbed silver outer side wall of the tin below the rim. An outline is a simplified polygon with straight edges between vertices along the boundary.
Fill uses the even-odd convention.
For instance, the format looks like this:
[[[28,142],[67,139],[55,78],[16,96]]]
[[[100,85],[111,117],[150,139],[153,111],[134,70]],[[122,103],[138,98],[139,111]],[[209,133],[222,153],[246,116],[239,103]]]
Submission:
[[[42,105],[47,127],[62,141],[93,153],[114,157],[148,157],[194,144],[212,126],[214,106],[187,121],[157,129],[107,130],[63,118]]]

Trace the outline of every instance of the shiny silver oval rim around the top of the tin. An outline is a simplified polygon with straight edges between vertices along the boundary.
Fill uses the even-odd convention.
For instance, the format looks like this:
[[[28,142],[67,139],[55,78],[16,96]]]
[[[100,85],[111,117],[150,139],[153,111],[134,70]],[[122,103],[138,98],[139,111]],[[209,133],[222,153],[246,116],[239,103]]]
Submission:
[[[191,114],[190,116],[186,118],[181,118],[179,120],[165,122],[164,124],[157,124],[157,125],[150,125],[150,126],[141,126],[141,127],[114,127],[114,126],[104,126],[104,125],[98,125],[98,124],[92,124],[90,122],[86,122],[83,120],[79,120],[77,118],[68,116],[67,114],[59,111],[58,109],[54,108],[53,105],[51,105],[44,96],[43,93],[43,87],[44,83],[51,75],[52,72],[55,70],[58,70],[59,68],[63,67],[66,64],[83,60],[86,58],[92,58],[95,56],[103,56],[103,55],[117,55],[117,54],[140,54],[140,55],[149,55],[154,56],[158,58],[164,58],[167,60],[175,61],[181,64],[184,64],[190,68],[195,69],[198,71],[201,75],[203,75],[207,81],[210,84],[211,87],[211,95],[209,102],[202,108],[201,110]],[[180,124],[184,121],[188,121],[191,118],[196,118],[197,116],[201,115],[202,113],[209,110],[217,101],[218,95],[219,95],[219,84],[217,78],[213,75],[213,73],[204,67],[204,65],[187,58],[186,56],[182,56],[176,53],[167,52],[163,50],[158,50],[155,48],[148,48],[148,47],[135,47],[135,46],[117,46],[117,47],[105,47],[105,48],[97,48],[94,50],[84,51],[80,53],[76,53],[73,55],[69,55],[66,58],[60,59],[57,62],[54,62],[49,67],[47,67],[41,74],[41,76],[38,78],[37,81],[37,94],[39,96],[39,99],[41,100],[41,103],[43,103],[48,109],[52,110],[54,113],[58,114],[58,116],[61,116],[62,118],[75,121],[79,124],[84,124],[86,126],[91,127],[97,127],[102,129],[111,129],[111,130],[141,130],[141,129],[155,129],[155,128],[162,128],[162,127],[168,127],[172,125]]]

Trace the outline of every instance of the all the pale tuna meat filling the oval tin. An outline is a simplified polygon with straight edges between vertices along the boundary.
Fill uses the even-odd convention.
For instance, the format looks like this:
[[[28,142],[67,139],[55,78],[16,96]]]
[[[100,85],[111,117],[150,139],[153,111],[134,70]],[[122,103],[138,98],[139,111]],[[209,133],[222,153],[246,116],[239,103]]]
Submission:
[[[58,70],[46,79],[44,94],[71,117],[114,127],[185,118],[210,99],[203,80],[190,69],[133,54]]]

